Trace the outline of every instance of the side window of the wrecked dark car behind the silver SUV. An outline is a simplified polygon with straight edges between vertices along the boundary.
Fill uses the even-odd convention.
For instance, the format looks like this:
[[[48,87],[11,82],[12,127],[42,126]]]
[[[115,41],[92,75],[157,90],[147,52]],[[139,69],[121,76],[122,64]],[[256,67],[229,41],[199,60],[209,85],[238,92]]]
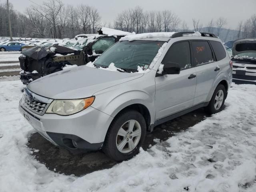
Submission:
[[[96,54],[102,54],[104,51],[106,51],[114,43],[115,43],[114,37],[100,38],[98,41],[96,41],[92,45],[92,50]]]

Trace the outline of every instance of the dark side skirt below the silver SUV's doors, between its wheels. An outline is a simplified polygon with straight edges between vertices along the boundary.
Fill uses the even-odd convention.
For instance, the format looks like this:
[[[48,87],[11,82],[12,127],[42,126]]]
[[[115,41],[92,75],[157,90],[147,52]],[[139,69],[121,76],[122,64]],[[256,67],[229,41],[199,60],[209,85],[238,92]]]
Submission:
[[[196,105],[196,106],[192,106],[191,108],[185,109],[185,110],[180,111],[180,112],[178,112],[178,113],[172,114],[172,115],[167,116],[167,117],[164,117],[164,118],[162,118],[162,119],[158,119],[158,120],[156,120],[156,121],[154,122],[154,124],[151,124],[151,125],[150,125],[149,130],[150,130],[150,132],[152,132],[155,126],[160,125],[160,124],[162,124],[162,123],[165,123],[165,122],[167,122],[167,121],[170,121],[170,120],[172,120],[172,119],[175,119],[175,118],[177,118],[177,117],[179,117],[179,116],[182,116],[182,115],[184,115],[184,114],[187,114],[187,113],[192,112],[192,111],[194,111],[194,110],[197,110],[197,109],[199,109],[199,108],[206,107],[206,106],[208,106],[208,104],[209,104],[209,102],[200,103],[200,104],[198,104],[198,105]]]

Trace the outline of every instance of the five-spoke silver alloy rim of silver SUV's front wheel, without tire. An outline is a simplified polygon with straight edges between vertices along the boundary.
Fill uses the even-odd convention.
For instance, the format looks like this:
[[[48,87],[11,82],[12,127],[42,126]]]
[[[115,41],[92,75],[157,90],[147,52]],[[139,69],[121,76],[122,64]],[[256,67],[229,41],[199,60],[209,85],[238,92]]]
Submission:
[[[128,120],[118,130],[116,147],[121,153],[131,152],[140,141],[141,127],[136,120]]]

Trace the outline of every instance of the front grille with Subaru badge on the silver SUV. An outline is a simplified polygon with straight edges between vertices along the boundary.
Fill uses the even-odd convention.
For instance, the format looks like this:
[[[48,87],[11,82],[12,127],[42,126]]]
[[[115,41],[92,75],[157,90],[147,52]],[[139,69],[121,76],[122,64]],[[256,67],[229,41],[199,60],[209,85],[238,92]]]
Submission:
[[[43,115],[51,102],[51,99],[34,94],[27,88],[24,90],[22,105],[33,113]]]

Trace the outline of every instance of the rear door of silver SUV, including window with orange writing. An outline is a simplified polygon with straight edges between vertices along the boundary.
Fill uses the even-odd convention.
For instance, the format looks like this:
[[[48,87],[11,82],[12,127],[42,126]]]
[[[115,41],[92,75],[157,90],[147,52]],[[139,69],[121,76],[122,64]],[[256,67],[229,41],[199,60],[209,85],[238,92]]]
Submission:
[[[210,43],[207,40],[192,40],[193,66],[196,70],[197,83],[194,105],[206,102],[220,68]]]

